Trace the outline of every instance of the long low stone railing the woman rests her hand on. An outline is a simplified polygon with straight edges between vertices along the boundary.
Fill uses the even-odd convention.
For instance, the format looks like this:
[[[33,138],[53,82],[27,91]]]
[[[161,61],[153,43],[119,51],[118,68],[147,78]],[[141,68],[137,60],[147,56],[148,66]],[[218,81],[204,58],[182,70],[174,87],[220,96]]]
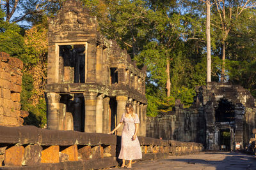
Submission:
[[[185,155],[202,144],[139,137],[143,160]],[[118,165],[120,137],[0,126],[0,169],[102,169]]]

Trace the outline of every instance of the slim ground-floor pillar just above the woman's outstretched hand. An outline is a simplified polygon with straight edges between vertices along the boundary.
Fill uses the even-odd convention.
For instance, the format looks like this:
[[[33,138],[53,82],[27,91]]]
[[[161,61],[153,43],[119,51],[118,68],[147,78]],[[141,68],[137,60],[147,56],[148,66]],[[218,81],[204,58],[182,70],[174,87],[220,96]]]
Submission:
[[[109,120],[109,100],[110,98],[109,97],[105,97],[103,99],[103,121],[102,121],[102,132],[103,133],[108,133],[110,132],[110,120]]]

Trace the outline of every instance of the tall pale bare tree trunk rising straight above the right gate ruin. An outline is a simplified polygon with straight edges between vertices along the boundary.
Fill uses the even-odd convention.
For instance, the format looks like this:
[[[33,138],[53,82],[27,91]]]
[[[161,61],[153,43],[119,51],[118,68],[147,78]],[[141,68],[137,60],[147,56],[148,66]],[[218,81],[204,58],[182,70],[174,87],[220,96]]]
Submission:
[[[206,45],[207,45],[207,82],[211,82],[211,4],[210,1],[206,1]]]

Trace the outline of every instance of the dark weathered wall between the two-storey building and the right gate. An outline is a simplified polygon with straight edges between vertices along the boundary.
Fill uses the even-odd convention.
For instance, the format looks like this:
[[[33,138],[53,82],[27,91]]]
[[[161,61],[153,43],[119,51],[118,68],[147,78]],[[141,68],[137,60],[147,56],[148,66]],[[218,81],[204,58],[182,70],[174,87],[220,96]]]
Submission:
[[[166,114],[147,117],[146,136],[157,139],[204,143],[203,114],[203,111],[197,108],[184,109],[177,105]]]

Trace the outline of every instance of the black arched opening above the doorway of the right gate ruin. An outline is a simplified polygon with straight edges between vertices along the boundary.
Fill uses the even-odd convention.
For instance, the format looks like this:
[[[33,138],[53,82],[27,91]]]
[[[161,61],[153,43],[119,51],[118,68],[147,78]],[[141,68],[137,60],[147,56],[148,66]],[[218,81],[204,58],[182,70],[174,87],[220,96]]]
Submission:
[[[221,99],[215,112],[216,122],[232,122],[235,120],[234,105],[227,99]]]

